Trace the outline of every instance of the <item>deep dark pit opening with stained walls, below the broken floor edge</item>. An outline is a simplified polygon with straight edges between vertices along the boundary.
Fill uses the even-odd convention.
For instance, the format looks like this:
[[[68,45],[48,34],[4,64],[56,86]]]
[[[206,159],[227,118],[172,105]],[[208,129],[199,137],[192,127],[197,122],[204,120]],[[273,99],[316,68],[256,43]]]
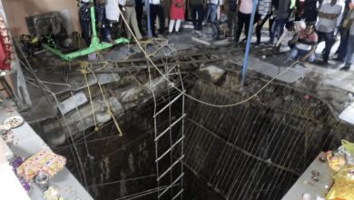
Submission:
[[[217,85],[199,79],[187,92],[211,104],[228,105],[264,85],[250,78],[240,92],[230,85],[235,76],[225,75]],[[176,95],[159,96],[157,107]],[[156,199],[154,129],[164,130],[171,119],[182,115],[182,101],[174,105],[161,115],[156,127],[151,101],[120,118],[122,137],[111,122],[87,132],[87,143],[77,138],[84,172],[70,142],[54,151],[68,158],[68,168],[83,185],[85,176],[95,199]],[[184,199],[281,199],[312,160],[321,151],[338,146],[349,131],[320,99],[276,83],[250,101],[230,107],[186,98],[185,111],[184,124],[175,125],[172,137],[160,145],[168,148],[170,139],[175,141],[184,131]],[[180,153],[181,149],[173,149],[176,157]],[[162,167],[170,165],[167,159]],[[179,170],[172,176],[180,174]],[[181,185],[174,192],[179,191],[177,187]]]

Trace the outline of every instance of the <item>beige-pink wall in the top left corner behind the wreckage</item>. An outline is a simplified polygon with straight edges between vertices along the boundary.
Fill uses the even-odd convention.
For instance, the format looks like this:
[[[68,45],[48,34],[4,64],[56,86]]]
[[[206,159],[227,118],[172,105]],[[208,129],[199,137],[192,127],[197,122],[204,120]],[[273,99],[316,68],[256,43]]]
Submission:
[[[13,35],[28,34],[25,17],[42,15],[53,11],[67,10],[72,18],[74,30],[80,28],[78,7],[74,0],[3,0],[5,14]]]

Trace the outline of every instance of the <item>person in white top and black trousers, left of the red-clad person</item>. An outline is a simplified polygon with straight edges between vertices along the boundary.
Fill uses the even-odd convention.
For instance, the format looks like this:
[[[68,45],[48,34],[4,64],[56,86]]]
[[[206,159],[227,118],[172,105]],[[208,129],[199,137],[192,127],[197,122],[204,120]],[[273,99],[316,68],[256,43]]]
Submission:
[[[161,5],[160,0],[149,0],[150,4],[150,17],[151,17],[151,27],[152,27],[152,36],[156,36],[156,26],[155,26],[155,21],[156,17],[159,17],[159,34],[162,35],[164,33],[164,14],[163,14],[163,8]]]

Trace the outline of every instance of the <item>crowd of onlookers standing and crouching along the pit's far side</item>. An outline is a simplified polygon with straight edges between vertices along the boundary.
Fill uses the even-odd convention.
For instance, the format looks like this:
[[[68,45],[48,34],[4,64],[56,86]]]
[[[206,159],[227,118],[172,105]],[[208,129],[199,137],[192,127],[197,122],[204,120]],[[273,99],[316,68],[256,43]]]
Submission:
[[[148,29],[152,36],[179,32],[182,21],[190,15],[195,32],[201,32],[203,25],[210,23],[212,37],[221,37],[220,18],[226,15],[227,31],[224,36],[233,38],[234,43],[247,39],[251,24],[252,0],[148,0],[150,27],[143,23],[144,0],[89,0],[80,1],[79,18],[84,41],[90,45],[90,12],[95,7],[96,22],[103,42],[113,42],[110,25],[119,20],[117,7],[141,40]],[[302,62],[313,62],[317,45],[324,41],[320,64],[327,65],[329,59],[345,63],[341,70],[349,70],[354,51],[354,0],[259,0],[254,19],[256,43],[261,45],[262,29],[268,22],[269,37],[266,45],[279,49],[287,35],[292,39],[290,58]],[[147,10],[147,9],[145,9]],[[159,29],[156,28],[156,19]],[[166,28],[167,27],[167,28]],[[244,35],[241,39],[242,30]],[[125,33],[131,39],[131,32],[125,26]],[[337,57],[330,58],[332,46],[340,35]],[[264,36],[264,35],[263,35]]]

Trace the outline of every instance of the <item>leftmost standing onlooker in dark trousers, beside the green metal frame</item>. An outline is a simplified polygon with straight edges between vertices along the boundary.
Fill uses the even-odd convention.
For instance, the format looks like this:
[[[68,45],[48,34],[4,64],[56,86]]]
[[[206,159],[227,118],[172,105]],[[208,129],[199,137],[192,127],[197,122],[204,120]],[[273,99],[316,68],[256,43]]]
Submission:
[[[90,22],[91,22],[91,17],[90,17],[90,8],[93,6],[93,4],[89,0],[81,0],[79,4],[79,20],[80,20],[80,26],[81,26],[81,31],[82,35],[84,38],[84,42],[86,43],[87,46],[91,45],[91,38],[90,38]]]

